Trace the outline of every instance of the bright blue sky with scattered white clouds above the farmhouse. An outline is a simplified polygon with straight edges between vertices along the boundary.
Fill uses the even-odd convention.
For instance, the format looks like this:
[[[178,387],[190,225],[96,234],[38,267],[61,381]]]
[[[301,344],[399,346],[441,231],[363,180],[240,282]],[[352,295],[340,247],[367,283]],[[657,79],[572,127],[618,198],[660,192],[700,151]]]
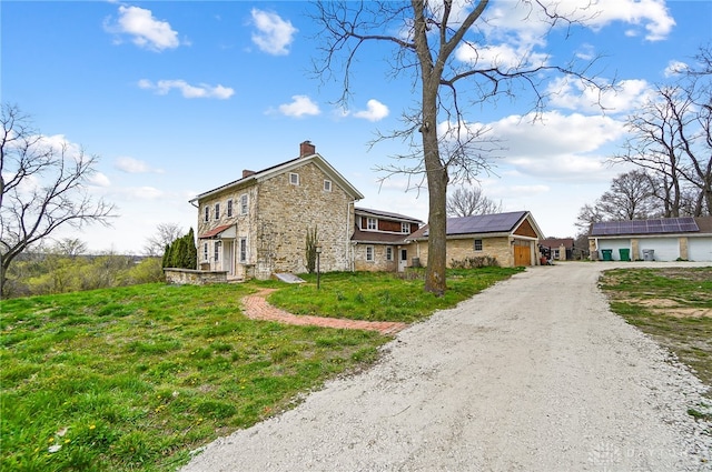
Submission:
[[[712,40],[712,2],[601,0],[587,28],[565,41],[562,31],[542,40],[541,24],[522,21],[518,4],[492,2],[486,53],[503,61],[547,53],[554,62],[602,54],[600,78],[621,84],[604,97],[605,114],[575,88],[548,81],[543,87],[561,93],[537,124],[522,119],[526,97],[469,117],[506,148],[493,173],[481,175],[485,195],[506,211],[532,211],[547,237],[574,235],[578,209],[625,171],[604,163],[625,139],[625,117]],[[112,228],[56,237],[79,237],[96,252],[140,253],[158,223],[196,227],[188,200],[197,193],[293,159],[304,140],[366,197],[359,207],[427,221],[424,192],[406,191],[402,177],[382,183],[374,170],[405,152],[402,144],[368,145],[413,106],[409,82],[388,79],[389,51],[368,48],[348,108],[334,104],[339,82],[309,73],[319,46],[312,9],[300,1],[2,1],[0,99],[31,114],[48,139],[98,155],[90,190],[118,207]]]

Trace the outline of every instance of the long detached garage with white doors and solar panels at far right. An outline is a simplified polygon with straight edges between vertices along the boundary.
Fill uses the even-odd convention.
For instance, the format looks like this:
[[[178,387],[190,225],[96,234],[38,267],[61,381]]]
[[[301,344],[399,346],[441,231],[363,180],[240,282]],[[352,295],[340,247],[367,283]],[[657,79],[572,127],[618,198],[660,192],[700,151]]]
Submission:
[[[589,247],[601,260],[712,261],[712,217],[593,223]]]

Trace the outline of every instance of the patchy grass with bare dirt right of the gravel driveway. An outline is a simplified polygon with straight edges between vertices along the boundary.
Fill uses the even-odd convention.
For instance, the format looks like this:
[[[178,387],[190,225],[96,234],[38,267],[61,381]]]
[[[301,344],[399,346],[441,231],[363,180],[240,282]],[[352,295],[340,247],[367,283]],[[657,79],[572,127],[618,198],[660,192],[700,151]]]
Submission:
[[[614,312],[712,385],[712,268],[617,269],[601,284]]]

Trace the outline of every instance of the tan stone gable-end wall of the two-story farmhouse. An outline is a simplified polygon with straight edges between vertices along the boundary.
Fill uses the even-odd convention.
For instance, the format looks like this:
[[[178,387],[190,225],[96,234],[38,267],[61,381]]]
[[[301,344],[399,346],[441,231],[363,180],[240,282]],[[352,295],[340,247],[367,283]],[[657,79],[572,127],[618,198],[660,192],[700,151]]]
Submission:
[[[299,183],[290,183],[290,173]],[[353,199],[314,162],[264,180],[258,185],[255,237],[256,277],[306,272],[307,228],[317,229],[323,272],[350,270]]]

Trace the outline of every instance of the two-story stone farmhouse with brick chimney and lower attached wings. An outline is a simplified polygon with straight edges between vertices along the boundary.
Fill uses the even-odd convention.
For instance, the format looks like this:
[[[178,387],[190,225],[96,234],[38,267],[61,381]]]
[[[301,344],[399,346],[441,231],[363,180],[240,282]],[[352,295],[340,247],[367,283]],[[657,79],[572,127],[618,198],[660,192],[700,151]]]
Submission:
[[[244,170],[241,179],[190,200],[198,210],[197,268],[221,272],[227,280],[303,273],[307,231],[315,229],[324,272],[404,271],[417,264],[417,258],[426,262],[423,221],[356,207],[363,198],[305,141],[297,158],[259,171]],[[502,244],[488,242],[483,250],[471,241],[469,251],[477,255],[492,248],[502,265],[536,263],[528,249],[536,248],[541,231],[528,212],[517,213],[514,222],[510,233],[498,234]],[[448,233],[448,253],[467,252],[461,240],[453,235],[451,241]],[[525,245],[527,257],[517,260],[515,245]]]

